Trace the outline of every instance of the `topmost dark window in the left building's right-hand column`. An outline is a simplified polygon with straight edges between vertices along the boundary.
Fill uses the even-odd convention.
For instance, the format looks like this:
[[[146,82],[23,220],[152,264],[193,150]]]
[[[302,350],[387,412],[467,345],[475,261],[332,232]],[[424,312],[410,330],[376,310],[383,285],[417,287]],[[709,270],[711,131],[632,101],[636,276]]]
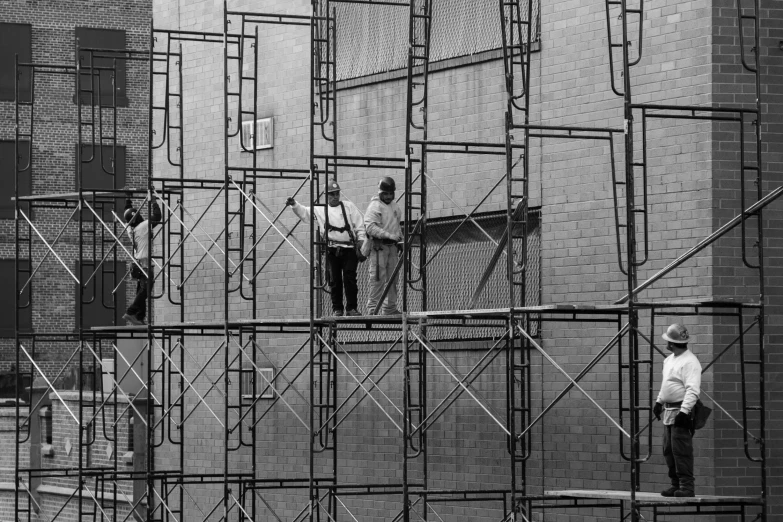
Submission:
[[[116,90],[117,106],[127,107],[125,93],[125,60],[120,53],[112,50],[125,49],[125,31],[119,29],[76,28],[76,47],[79,51],[79,64],[82,68],[79,92],[83,104],[112,106],[112,90]],[[101,51],[82,51],[81,49],[100,49]],[[101,55],[95,57],[94,54]],[[117,57],[114,57],[117,54]],[[116,74],[112,69],[116,61]],[[92,77],[92,81],[90,78]],[[100,100],[98,97],[100,96]],[[76,98],[74,97],[74,103]]]

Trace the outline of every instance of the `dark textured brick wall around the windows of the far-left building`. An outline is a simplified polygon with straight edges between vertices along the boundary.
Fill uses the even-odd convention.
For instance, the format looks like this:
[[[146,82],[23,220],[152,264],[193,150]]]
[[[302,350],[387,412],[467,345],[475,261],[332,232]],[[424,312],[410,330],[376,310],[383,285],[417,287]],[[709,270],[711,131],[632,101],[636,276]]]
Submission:
[[[145,0],[125,2],[120,7],[114,2],[99,1],[74,8],[70,2],[44,1],[31,7],[29,2],[13,0],[4,4],[0,22],[32,25],[33,62],[39,64],[75,65],[75,28],[92,27],[122,29],[126,32],[128,49],[149,47],[151,3]],[[128,106],[119,109],[117,144],[127,151],[127,186],[141,186],[147,172],[147,101],[148,74],[145,62],[127,63],[126,92]],[[74,77],[38,72],[35,80],[35,120],[32,155],[33,194],[73,192],[75,190],[76,105]],[[14,139],[14,102],[0,102],[0,139]],[[85,107],[83,118],[89,117]],[[104,124],[111,118],[104,116]],[[21,112],[20,132],[29,131],[29,112]],[[83,138],[88,141],[89,138]],[[66,222],[70,211],[38,209],[34,215],[36,227],[51,242]],[[77,215],[78,219],[78,215]],[[85,217],[85,219],[88,219]],[[27,233],[22,221],[21,233]],[[98,225],[100,226],[100,225]],[[90,227],[87,227],[90,228]],[[77,258],[78,225],[72,222],[56,246],[57,252],[73,271]],[[34,235],[34,234],[33,234]],[[90,244],[86,237],[86,244]],[[47,253],[36,237],[33,241],[32,265],[36,266]],[[0,255],[14,256],[14,222],[0,221]],[[85,258],[92,256],[87,247]],[[33,324],[38,332],[72,331],[75,327],[75,283],[53,256],[42,265],[35,276],[33,288]],[[121,303],[119,306],[123,306]],[[29,348],[29,347],[28,347]],[[39,352],[41,366],[47,372],[56,372],[73,350],[72,346],[52,347],[45,354]],[[6,371],[14,361],[13,341],[0,340],[0,370]]]

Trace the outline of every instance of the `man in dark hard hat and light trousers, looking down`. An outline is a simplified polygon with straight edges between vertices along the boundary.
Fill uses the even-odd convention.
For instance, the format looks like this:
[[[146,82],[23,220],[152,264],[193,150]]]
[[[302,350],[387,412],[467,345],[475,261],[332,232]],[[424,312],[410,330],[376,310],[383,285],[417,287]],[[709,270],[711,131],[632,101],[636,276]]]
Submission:
[[[372,315],[383,291],[389,285],[386,299],[380,309],[383,315],[399,315],[397,309],[397,284],[394,269],[399,259],[402,241],[402,211],[394,201],[396,186],[390,177],[378,183],[378,195],[374,196],[364,214],[364,226],[372,245],[365,251],[370,259],[370,296],[367,299],[367,313]],[[392,276],[395,276],[394,278]]]

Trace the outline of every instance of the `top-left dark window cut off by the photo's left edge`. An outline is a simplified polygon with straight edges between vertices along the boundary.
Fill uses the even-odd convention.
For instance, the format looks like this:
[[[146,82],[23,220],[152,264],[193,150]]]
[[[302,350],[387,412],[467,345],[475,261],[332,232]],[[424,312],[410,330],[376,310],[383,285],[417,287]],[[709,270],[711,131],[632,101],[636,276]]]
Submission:
[[[13,100],[16,56],[19,63],[33,61],[33,29],[27,24],[0,24],[0,100]],[[20,70],[19,101],[30,101],[30,68]]]

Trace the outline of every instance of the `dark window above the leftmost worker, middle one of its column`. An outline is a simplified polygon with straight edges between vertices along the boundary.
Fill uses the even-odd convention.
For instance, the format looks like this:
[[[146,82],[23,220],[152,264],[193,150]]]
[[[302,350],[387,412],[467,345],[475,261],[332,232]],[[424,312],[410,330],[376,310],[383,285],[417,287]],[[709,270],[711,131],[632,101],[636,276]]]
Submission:
[[[77,161],[78,158],[79,156],[77,155]],[[82,189],[114,189],[125,187],[125,147],[117,146],[117,155],[114,157],[111,145],[102,145],[100,147],[82,145],[81,162]],[[76,179],[77,177],[74,176],[74,180]],[[75,183],[74,188],[78,190],[78,183]],[[115,198],[114,204],[111,204],[106,198],[102,198],[102,200],[98,200],[95,203],[93,203],[92,200],[89,200],[89,202],[90,205],[93,205],[95,211],[100,214],[101,219],[107,222],[107,225],[114,221],[114,218],[112,218],[111,215],[112,210],[114,210],[119,217],[122,217],[122,212],[125,208],[124,196]],[[94,217],[93,213],[90,212],[90,209],[85,209],[82,215],[82,219],[85,221],[91,220]]]

